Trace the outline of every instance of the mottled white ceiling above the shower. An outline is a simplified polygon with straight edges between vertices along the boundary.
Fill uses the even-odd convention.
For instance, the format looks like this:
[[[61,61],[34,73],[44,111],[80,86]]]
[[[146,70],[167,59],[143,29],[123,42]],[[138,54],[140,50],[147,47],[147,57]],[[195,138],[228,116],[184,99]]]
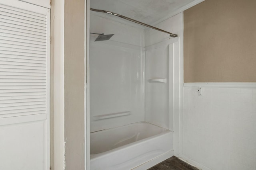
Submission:
[[[106,10],[147,24],[163,21],[203,0],[90,0],[90,8]]]

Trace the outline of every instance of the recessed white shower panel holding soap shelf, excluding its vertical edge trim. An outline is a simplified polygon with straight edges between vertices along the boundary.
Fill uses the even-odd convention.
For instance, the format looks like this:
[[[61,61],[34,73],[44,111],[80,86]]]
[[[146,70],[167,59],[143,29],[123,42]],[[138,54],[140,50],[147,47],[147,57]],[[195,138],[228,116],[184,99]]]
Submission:
[[[146,121],[169,129],[168,46],[146,51]]]

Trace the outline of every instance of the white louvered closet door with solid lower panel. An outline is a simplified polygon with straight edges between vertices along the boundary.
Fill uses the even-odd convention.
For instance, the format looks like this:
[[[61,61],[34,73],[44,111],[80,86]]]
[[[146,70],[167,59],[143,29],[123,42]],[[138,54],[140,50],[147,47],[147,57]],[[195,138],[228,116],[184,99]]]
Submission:
[[[49,9],[0,0],[0,170],[49,170],[49,39]]]

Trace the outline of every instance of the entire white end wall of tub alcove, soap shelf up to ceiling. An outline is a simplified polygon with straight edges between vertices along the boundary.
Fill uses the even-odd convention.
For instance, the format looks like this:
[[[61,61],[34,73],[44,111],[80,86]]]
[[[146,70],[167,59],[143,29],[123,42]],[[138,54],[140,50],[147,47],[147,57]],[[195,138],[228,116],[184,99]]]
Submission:
[[[154,26],[176,33],[179,37],[172,38],[166,33],[145,29],[145,119],[174,130],[174,115],[179,113],[178,67],[182,62],[180,43],[183,36],[183,14],[177,14]]]

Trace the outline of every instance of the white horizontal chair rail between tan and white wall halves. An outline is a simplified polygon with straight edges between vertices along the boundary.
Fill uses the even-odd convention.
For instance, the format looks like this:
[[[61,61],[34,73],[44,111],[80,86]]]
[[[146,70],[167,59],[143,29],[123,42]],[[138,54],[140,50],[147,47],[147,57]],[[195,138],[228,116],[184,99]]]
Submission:
[[[256,88],[256,82],[197,82],[183,85],[184,87]]]

